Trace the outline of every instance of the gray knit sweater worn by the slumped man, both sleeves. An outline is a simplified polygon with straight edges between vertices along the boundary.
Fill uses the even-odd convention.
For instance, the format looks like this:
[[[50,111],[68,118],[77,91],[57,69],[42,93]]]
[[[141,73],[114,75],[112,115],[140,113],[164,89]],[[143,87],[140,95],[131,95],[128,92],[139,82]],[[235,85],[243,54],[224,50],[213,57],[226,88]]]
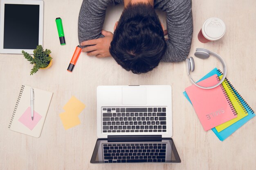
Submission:
[[[103,37],[101,29],[108,5],[124,4],[123,0],[83,0],[78,20],[79,44]],[[189,55],[193,19],[191,0],[154,0],[154,8],[166,12],[167,49],[162,62],[184,61]]]

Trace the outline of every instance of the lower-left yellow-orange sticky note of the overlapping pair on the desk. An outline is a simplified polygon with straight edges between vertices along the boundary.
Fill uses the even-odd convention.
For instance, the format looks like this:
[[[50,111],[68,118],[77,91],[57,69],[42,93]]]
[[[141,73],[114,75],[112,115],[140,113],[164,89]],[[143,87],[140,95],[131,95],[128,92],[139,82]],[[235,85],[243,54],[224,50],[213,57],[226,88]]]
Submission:
[[[72,112],[60,113],[58,116],[60,116],[65,130],[80,124],[78,115],[74,115]]]

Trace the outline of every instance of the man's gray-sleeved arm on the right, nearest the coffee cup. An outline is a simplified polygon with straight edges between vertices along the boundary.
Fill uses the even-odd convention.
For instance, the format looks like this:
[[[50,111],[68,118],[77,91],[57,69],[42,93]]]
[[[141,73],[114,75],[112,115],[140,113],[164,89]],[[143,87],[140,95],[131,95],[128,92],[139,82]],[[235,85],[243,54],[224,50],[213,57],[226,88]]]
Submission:
[[[167,4],[164,11],[167,13],[168,40],[162,61],[184,61],[189,55],[193,35],[192,2],[170,0]]]

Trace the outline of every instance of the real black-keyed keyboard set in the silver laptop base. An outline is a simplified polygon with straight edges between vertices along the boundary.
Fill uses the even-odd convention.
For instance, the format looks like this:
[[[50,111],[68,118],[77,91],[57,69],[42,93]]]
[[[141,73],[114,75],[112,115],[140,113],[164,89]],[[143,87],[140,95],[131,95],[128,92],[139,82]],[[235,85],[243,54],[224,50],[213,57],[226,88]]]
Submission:
[[[102,132],[166,132],[166,107],[102,107]]]

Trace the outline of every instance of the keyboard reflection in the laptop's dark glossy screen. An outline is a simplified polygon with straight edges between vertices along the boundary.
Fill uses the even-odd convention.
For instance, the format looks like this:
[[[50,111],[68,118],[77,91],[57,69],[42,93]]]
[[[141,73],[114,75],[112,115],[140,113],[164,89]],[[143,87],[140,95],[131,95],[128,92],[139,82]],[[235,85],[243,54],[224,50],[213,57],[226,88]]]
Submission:
[[[165,143],[103,144],[105,163],[165,162]]]

